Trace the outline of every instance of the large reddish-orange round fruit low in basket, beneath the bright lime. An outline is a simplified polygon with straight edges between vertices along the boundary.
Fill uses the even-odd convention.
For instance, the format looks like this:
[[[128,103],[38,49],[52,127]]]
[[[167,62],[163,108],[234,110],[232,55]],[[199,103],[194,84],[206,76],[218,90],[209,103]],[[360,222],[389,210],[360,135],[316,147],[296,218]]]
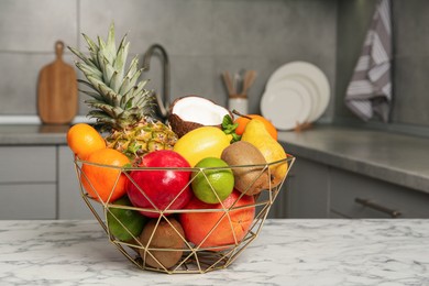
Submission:
[[[186,206],[189,211],[179,215],[186,239],[196,246],[212,251],[224,250],[242,241],[252,227],[255,206],[253,196],[240,196],[238,190],[233,190],[222,201],[226,209],[232,207],[229,216],[220,211],[221,204],[206,204],[194,197]]]

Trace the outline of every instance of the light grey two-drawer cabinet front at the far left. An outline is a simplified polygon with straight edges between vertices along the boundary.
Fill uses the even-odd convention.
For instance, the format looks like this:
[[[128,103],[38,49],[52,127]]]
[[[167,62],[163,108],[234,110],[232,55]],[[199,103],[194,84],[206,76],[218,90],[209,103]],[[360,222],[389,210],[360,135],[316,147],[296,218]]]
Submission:
[[[55,219],[55,146],[0,146],[0,219]]]

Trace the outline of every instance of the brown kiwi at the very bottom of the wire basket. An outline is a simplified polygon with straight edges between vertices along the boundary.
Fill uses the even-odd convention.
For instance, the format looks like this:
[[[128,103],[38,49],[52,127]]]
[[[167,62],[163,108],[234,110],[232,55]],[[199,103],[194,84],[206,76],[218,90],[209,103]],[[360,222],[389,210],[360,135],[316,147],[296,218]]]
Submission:
[[[185,232],[176,219],[168,218],[168,221],[161,219],[158,222],[157,219],[153,219],[145,224],[140,234],[140,242],[144,246],[148,244],[147,252],[140,249],[140,256],[145,265],[155,268],[170,268],[180,260],[185,248],[185,241],[182,239],[185,238]]]

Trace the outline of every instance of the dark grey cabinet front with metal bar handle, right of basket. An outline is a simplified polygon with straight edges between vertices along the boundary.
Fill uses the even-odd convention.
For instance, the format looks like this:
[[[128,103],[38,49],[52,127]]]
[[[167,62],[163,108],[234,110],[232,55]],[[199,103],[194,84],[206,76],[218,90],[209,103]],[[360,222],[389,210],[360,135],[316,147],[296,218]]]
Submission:
[[[429,218],[429,194],[299,156],[292,172],[288,218]]]

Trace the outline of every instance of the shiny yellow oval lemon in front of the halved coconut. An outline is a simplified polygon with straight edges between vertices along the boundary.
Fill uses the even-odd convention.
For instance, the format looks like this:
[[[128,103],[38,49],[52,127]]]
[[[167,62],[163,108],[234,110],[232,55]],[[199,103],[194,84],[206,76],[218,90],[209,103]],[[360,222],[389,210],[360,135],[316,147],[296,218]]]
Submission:
[[[231,135],[227,135],[219,128],[201,127],[177,140],[173,150],[194,167],[202,158],[220,158],[222,151],[230,145],[231,139]]]

